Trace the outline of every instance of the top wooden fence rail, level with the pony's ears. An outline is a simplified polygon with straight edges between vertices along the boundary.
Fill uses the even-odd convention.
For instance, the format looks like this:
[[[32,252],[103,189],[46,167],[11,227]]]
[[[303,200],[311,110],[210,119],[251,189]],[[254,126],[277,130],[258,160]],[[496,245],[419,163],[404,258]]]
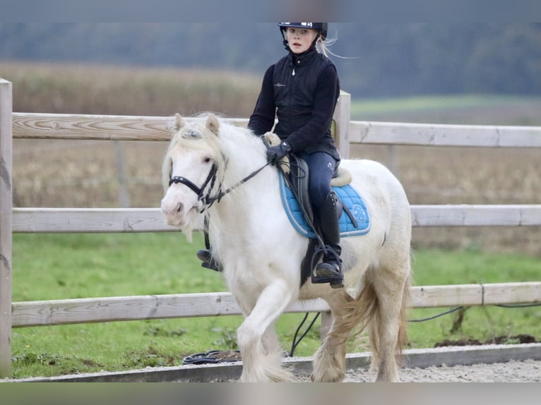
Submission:
[[[170,121],[170,117],[13,113],[13,138],[167,141],[170,140],[170,133],[167,131]],[[229,119],[228,121],[241,126],[245,126],[248,122],[247,119]],[[338,143],[342,147],[349,146],[350,143],[541,147],[541,127],[537,126],[465,126],[348,121],[347,124],[337,124],[337,133],[339,134]],[[343,156],[349,156],[349,152],[343,153]]]

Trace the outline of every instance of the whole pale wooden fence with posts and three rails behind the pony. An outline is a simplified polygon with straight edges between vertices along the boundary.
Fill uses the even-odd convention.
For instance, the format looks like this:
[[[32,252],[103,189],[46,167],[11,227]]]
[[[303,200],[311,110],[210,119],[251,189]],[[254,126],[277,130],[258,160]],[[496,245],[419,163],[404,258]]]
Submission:
[[[168,117],[25,114],[12,111],[11,83],[0,78],[0,378],[11,375],[11,329],[85,322],[239,315],[229,293],[174,294],[11,302],[11,246],[16,233],[177,231],[160,210],[12,207],[12,139],[168,141]],[[244,119],[231,119],[245,124]],[[335,112],[337,145],[350,143],[468,147],[541,147],[540,127],[451,126],[350,121],[350,96]],[[541,225],[541,205],[414,205],[413,226]],[[538,303],[541,282],[412,287],[413,306]],[[322,300],[288,312],[328,311]]]

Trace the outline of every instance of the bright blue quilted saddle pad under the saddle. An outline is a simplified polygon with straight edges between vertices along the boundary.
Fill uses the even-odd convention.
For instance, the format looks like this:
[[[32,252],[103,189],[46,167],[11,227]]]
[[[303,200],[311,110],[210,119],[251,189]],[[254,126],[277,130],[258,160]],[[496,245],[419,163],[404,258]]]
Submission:
[[[283,174],[280,173],[279,176],[280,196],[282,197],[282,203],[287,217],[300,234],[307,238],[316,238],[316,234],[314,234],[314,231],[311,230],[304,218],[304,214],[302,213],[297,198],[295,198],[295,195],[293,195],[292,191],[287,186],[287,183],[285,183]],[[364,200],[359,193],[357,193],[350,185],[333,187],[333,190],[338,195],[340,201],[342,201],[342,204],[350,210],[357,221],[357,227],[355,227],[349,215],[343,210],[339,221],[340,237],[367,234],[370,230],[370,216],[368,214],[367,205],[364,203]]]

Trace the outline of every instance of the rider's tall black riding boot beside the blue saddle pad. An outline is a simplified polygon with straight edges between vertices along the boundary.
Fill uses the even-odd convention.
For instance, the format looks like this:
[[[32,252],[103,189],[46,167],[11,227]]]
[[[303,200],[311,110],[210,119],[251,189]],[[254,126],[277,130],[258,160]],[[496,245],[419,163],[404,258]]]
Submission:
[[[314,284],[330,283],[333,289],[339,289],[344,286],[344,276],[342,274],[342,260],[340,253],[340,219],[341,205],[334,191],[328,193],[325,202],[316,209],[316,220],[319,224],[325,252],[323,253],[323,262],[319,263],[312,272],[311,281]]]

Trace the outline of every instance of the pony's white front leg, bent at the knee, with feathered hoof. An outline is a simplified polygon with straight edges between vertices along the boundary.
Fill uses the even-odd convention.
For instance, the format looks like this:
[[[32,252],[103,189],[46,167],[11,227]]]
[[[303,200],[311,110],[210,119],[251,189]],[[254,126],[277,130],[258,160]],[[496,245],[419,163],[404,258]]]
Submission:
[[[289,371],[282,368],[282,352],[278,345],[269,347],[263,335],[283,313],[293,297],[291,286],[285,280],[275,280],[261,292],[256,306],[237,330],[237,344],[242,355],[242,382],[273,382],[291,380]],[[269,350],[271,349],[271,350]]]

